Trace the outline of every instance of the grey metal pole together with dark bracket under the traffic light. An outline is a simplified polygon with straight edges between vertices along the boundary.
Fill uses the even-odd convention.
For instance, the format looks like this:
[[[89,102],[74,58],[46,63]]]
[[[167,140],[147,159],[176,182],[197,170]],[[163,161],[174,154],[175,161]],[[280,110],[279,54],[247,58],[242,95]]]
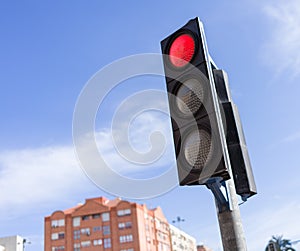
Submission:
[[[215,197],[224,251],[246,251],[246,240],[233,180],[207,184]],[[225,194],[222,191],[225,190]]]

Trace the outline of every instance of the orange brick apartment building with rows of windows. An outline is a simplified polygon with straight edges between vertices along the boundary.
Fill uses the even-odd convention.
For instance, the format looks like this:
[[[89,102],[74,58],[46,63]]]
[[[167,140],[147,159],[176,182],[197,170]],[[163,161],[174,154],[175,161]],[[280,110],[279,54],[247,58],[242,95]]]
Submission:
[[[170,251],[169,224],[160,207],[104,197],[45,217],[45,251],[96,250]]]

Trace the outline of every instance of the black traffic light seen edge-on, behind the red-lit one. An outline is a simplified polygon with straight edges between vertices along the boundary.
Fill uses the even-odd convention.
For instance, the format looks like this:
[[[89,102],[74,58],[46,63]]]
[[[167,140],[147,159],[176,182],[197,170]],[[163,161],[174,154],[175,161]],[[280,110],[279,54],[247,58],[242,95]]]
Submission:
[[[213,70],[218,98],[223,108],[223,126],[236,193],[247,199],[257,193],[237,106],[233,103],[227,74]]]

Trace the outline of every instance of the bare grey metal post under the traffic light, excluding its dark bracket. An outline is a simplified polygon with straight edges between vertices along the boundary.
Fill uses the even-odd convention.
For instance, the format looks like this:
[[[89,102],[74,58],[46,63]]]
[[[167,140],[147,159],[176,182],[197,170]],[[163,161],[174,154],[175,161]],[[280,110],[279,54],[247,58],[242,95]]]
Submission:
[[[217,207],[223,249],[224,251],[246,251],[246,240],[233,180],[228,180],[226,187],[231,208],[220,212]]]

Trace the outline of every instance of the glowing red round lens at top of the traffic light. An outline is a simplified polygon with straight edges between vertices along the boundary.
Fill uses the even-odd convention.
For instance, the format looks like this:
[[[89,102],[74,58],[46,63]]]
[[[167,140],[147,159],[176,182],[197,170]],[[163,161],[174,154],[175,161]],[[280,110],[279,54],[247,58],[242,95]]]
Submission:
[[[189,34],[182,34],[175,38],[170,46],[170,62],[176,68],[186,66],[195,54],[195,40]]]

